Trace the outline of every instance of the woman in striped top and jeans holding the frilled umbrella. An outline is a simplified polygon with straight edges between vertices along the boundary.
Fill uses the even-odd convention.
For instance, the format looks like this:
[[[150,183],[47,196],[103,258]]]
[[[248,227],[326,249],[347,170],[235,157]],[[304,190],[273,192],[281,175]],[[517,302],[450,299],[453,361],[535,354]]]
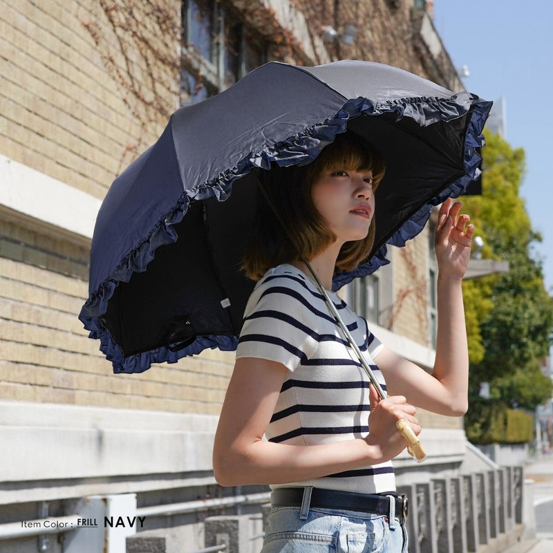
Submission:
[[[404,419],[418,435],[415,406],[452,416],[467,409],[461,281],[474,227],[465,230],[469,217],[459,215],[460,203],[442,204],[435,234],[438,346],[431,375],[380,344],[330,292],[332,275],[352,270],[371,250],[382,176],[379,153],[349,132],[310,165],[263,174],[279,215],[261,214],[245,257],[246,273],[259,282],[245,310],[214,445],[221,485],[265,483],[273,490],[263,553],[406,551],[404,504],[391,465],[406,442],[395,424]],[[386,400],[368,385],[303,259]]]

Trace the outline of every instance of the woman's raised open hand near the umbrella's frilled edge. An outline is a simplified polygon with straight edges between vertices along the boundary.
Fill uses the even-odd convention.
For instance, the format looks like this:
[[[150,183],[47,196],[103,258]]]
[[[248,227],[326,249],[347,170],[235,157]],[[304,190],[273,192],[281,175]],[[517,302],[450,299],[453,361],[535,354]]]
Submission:
[[[474,225],[467,214],[459,215],[461,202],[451,198],[442,203],[434,243],[440,274],[462,279],[469,265]]]

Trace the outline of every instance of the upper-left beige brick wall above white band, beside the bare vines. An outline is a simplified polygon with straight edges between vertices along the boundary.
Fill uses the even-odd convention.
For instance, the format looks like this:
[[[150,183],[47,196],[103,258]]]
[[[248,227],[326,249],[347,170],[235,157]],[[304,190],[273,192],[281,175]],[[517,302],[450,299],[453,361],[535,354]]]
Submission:
[[[145,146],[162,130],[161,120],[140,124],[139,102],[113,78],[126,59],[102,3],[2,0],[0,11],[0,152],[97,198],[133,158],[129,144]],[[94,37],[111,48],[110,60]],[[132,70],[138,79],[140,69]]]

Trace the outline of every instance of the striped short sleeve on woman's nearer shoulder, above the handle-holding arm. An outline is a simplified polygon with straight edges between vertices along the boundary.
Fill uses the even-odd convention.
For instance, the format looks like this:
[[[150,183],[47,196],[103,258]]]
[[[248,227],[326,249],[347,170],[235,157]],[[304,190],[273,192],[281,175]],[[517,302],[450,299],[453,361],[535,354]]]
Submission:
[[[247,303],[236,359],[268,359],[294,371],[319,344],[312,303],[312,292],[296,277],[263,279]]]

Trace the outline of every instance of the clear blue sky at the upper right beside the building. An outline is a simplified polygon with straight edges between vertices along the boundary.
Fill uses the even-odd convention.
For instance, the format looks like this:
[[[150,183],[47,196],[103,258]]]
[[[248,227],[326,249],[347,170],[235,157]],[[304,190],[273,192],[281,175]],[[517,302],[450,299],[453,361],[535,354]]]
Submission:
[[[505,138],[525,149],[521,196],[553,294],[553,1],[435,0],[434,25],[453,64],[469,67],[467,90],[505,98]]]

